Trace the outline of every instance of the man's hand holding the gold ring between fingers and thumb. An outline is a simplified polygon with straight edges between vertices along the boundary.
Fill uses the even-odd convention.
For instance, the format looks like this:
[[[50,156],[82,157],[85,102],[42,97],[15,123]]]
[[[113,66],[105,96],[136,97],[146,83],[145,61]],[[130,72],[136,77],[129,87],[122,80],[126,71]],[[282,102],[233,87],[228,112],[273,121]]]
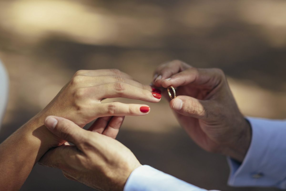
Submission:
[[[154,85],[176,88],[170,108],[189,136],[203,149],[243,161],[251,141],[251,127],[239,111],[221,69],[198,69],[182,61],[160,65]]]

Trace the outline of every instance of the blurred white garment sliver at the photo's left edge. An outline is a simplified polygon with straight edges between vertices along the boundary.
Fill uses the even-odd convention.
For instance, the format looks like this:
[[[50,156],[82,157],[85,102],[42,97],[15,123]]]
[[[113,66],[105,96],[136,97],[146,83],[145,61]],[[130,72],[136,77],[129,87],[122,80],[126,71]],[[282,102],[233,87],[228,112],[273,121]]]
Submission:
[[[8,75],[0,60],[0,128],[8,100]]]

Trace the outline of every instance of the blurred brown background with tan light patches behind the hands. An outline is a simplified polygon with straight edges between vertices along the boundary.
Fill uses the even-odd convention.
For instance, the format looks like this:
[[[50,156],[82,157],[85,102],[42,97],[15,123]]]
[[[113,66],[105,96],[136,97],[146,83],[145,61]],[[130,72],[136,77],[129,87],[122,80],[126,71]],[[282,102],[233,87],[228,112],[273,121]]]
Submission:
[[[0,141],[79,69],[118,68],[149,84],[172,59],[222,68],[245,115],[285,118],[285,8],[283,0],[0,0],[0,58],[11,80]],[[142,164],[206,189],[277,190],[228,187],[225,157],[198,148],[166,101],[150,106],[118,136]],[[92,189],[36,165],[21,190]]]

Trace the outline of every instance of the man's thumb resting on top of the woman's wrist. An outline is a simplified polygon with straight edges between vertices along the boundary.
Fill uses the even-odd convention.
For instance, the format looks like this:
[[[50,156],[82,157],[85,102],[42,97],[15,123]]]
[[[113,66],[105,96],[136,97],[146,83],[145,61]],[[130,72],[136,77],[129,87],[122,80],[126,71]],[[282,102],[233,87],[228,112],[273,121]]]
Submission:
[[[80,128],[74,122],[56,116],[48,116],[45,120],[45,126],[55,136],[75,145],[84,140],[83,135],[86,133],[86,130]]]

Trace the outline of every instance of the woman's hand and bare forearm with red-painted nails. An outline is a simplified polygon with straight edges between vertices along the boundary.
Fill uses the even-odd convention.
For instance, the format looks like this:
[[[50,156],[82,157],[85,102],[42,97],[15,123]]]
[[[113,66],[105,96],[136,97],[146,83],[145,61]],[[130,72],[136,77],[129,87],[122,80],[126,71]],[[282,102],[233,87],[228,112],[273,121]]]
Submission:
[[[83,127],[92,120],[91,131],[115,138],[124,116],[142,116],[150,108],[142,104],[101,103],[104,98],[130,98],[159,102],[158,90],[134,81],[116,69],[81,70],[61,89],[49,105],[0,144],[0,185],[19,190],[34,164],[50,148],[65,142],[44,126],[47,116],[65,117]],[[102,136],[104,136],[102,135]]]

